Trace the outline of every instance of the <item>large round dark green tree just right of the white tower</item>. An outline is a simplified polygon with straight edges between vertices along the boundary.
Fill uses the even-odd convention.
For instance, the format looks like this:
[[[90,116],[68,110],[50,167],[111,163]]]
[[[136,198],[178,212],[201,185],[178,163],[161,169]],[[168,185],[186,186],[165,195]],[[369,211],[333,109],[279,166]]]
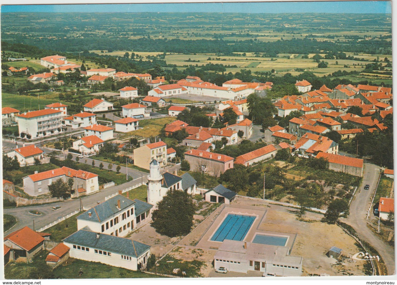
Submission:
[[[159,234],[183,236],[191,231],[194,214],[191,195],[180,190],[169,190],[153,211],[152,226]]]

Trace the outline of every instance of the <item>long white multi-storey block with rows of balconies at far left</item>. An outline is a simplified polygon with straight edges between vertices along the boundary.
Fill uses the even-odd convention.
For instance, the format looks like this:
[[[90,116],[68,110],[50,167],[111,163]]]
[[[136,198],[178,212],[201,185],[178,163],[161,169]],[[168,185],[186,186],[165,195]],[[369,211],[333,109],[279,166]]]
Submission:
[[[62,132],[62,111],[44,109],[18,115],[18,131],[32,136],[51,135]]]

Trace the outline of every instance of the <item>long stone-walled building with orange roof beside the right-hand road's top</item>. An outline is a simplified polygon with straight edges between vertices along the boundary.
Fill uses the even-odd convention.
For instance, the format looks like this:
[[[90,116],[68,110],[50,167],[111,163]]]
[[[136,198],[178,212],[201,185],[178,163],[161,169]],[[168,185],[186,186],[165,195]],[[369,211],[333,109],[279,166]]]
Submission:
[[[354,176],[362,176],[364,160],[339,154],[318,152],[316,158],[324,158],[328,161],[328,169],[349,173]]]

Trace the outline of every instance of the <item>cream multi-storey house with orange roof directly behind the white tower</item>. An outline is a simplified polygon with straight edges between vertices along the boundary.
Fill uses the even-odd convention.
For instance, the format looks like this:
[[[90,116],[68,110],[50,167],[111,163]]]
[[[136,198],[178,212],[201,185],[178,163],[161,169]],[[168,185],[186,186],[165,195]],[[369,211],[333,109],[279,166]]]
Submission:
[[[158,141],[134,149],[134,165],[149,170],[152,160],[157,160],[160,166],[167,165],[166,143]]]

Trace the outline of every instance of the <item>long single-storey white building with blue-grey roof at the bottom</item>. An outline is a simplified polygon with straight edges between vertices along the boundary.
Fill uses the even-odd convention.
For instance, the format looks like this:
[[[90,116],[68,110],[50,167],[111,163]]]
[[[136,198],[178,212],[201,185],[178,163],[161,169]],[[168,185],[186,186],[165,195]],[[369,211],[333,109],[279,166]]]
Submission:
[[[81,229],[63,240],[71,258],[100,262],[129,270],[145,269],[150,246],[110,234]]]

